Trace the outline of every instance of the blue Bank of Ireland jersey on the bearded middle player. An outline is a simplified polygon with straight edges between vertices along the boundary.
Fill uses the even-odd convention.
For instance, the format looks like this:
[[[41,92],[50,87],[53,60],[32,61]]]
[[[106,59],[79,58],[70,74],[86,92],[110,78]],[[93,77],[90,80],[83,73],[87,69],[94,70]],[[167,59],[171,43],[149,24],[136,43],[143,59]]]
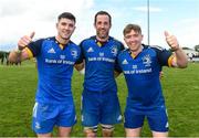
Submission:
[[[84,88],[92,92],[104,92],[109,88],[117,91],[114,77],[116,57],[124,50],[122,42],[109,36],[107,42],[100,43],[96,36],[81,42],[82,57],[85,60]]]

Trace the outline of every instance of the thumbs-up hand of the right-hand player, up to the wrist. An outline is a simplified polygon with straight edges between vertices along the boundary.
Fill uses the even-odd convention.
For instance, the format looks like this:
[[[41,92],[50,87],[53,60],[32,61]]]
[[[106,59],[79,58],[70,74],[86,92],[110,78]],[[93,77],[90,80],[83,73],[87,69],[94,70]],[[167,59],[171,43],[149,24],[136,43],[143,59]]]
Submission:
[[[175,35],[171,35],[167,31],[165,31],[165,38],[172,51],[179,50],[179,43]]]

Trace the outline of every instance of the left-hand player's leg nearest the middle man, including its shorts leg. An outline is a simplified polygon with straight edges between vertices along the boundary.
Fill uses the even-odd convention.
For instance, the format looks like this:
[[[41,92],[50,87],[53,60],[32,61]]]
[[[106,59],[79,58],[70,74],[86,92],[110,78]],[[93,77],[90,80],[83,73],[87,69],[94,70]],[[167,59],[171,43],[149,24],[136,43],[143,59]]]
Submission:
[[[76,123],[75,106],[73,99],[67,104],[60,105],[56,125],[59,126],[59,137],[70,137],[72,127]]]

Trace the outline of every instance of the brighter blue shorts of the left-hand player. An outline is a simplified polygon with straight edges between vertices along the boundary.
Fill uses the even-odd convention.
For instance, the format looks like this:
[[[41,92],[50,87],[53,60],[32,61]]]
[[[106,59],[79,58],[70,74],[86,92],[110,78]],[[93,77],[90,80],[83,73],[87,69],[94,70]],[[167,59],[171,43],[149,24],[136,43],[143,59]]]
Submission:
[[[69,104],[35,103],[33,108],[32,129],[36,134],[49,134],[53,127],[72,127],[76,123],[75,107]]]

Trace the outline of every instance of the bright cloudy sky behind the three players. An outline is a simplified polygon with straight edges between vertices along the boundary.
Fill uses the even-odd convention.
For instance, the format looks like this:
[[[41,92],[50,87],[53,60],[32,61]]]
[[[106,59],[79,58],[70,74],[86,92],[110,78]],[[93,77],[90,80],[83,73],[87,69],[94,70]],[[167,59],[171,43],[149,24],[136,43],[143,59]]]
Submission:
[[[123,29],[128,23],[142,26],[143,43],[169,49],[164,31],[176,35],[181,46],[199,44],[199,0],[0,0],[0,51],[17,47],[18,40],[35,32],[34,40],[56,35],[55,23],[62,12],[76,17],[76,29],[71,40],[78,44],[95,35],[93,25],[97,11],[111,13],[109,34],[124,42]]]

